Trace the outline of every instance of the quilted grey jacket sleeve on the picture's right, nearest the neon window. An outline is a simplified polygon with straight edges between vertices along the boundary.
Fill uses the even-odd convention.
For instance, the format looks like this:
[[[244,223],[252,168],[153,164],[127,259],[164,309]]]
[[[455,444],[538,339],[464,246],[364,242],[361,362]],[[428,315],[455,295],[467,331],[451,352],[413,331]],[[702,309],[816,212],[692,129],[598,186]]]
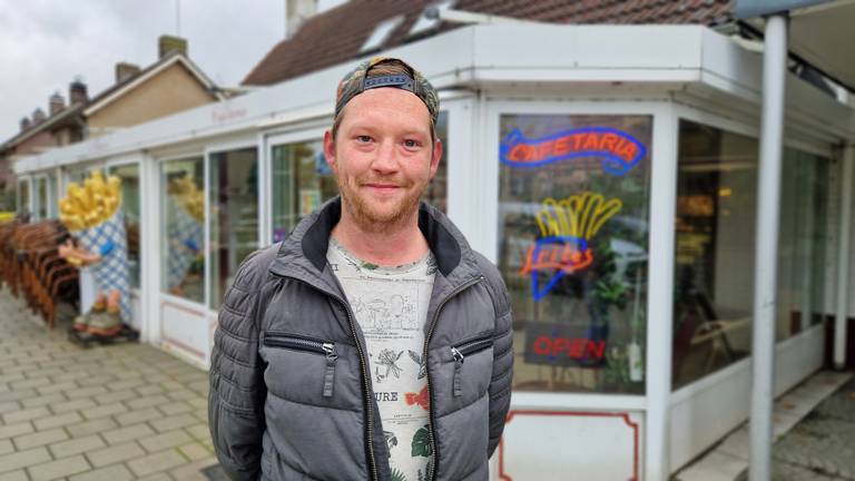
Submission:
[[[489,279],[495,308],[495,331],[493,332],[493,375],[488,389],[490,395],[490,440],[488,458],[493,455],[504,431],[504,420],[511,406],[513,381],[513,331],[511,330],[511,304],[501,275],[495,272]]]

